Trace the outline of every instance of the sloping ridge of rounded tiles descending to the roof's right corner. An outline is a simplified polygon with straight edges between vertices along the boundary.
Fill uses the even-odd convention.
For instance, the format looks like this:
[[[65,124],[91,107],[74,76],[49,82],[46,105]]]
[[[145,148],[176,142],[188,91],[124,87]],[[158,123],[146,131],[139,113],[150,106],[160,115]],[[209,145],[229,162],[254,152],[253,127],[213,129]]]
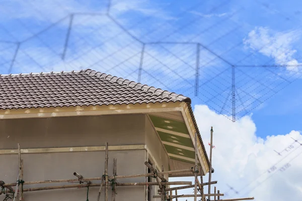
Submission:
[[[84,73],[86,73],[88,75],[94,75],[99,78],[102,77],[108,81],[117,82],[119,84],[127,84],[128,86],[140,88],[146,92],[151,91],[152,93],[155,93],[158,95],[163,95],[163,96],[168,96],[168,97],[172,96],[174,98],[180,98],[180,99],[182,99],[182,102],[191,103],[191,98],[189,98],[187,96],[184,96],[182,94],[177,94],[175,92],[169,92],[167,90],[163,90],[161,88],[156,88],[154,86],[148,86],[146,84],[141,84],[139,82],[130,81],[128,79],[123,79],[121,77],[112,76],[112,75],[106,74],[106,73],[101,73],[101,72],[98,72],[98,71],[92,70],[92,69],[86,69],[86,70],[84,70]]]

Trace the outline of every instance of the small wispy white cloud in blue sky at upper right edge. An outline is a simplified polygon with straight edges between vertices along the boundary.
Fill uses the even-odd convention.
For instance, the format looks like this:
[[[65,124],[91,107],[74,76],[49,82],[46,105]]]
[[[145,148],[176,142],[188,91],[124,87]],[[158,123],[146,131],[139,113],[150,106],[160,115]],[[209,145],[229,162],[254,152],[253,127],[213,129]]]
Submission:
[[[301,35],[300,31],[276,32],[266,27],[256,27],[244,39],[246,47],[271,57],[278,65],[288,65],[287,69],[297,71],[299,64],[294,58],[297,52],[293,48]]]

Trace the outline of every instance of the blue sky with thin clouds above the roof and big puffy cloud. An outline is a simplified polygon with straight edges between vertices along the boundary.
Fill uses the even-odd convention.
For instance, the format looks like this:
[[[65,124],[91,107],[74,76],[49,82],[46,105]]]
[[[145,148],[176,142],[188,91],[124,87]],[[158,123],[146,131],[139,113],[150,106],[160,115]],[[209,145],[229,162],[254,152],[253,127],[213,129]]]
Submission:
[[[191,97],[197,118],[204,117],[198,111],[224,118],[220,127],[229,130],[221,129],[218,136],[236,133],[248,138],[251,147],[263,146],[260,151],[251,148],[260,161],[262,155],[269,157],[290,143],[288,136],[301,137],[295,132],[302,130],[302,2],[113,0],[106,14],[108,5],[108,1],[4,1],[0,73],[91,68],[182,93]],[[199,121],[207,132],[203,128],[207,121]],[[219,151],[225,150],[217,148],[217,157]],[[243,152],[241,157],[248,160],[251,153]]]

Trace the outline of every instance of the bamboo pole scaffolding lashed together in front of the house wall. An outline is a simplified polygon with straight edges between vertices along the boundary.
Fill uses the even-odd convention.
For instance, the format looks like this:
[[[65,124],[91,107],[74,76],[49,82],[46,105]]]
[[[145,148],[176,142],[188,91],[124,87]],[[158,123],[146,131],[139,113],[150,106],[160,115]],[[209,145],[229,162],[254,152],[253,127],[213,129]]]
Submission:
[[[213,129],[211,127],[211,148],[210,148],[210,162],[212,156],[212,139],[213,139]],[[195,143],[197,141],[197,134],[195,134]],[[21,158],[21,149],[20,144],[18,144],[19,151],[19,172],[17,177],[17,182],[15,183],[5,183],[0,180],[0,195],[5,194],[4,200],[13,199],[13,201],[17,200],[17,194],[19,194],[18,199],[20,201],[24,201],[24,192],[28,191],[40,191],[40,190],[52,190],[52,189],[63,189],[63,188],[81,188],[87,187],[87,200],[89,196],[89,188],[90,187],[99,187],[99,193],[97,197],[97,201],[101,198],[101,193],[104,188],[105,190],[105,201],[108,201],[108,188],[112,189],[112,201],[115,201],[115,195],[117,194],[117,186],[149,186],[156,185],[159,186],[158,194],[154,195],[153,198],[161,198],[162,201],[168,200],[171,201],[175,199],[178,201],[180,197],[194,197],[194,201],[197,201],[197,197],[201,197],[201,201],[236,201],[236,200],[250,200],[254,199],[254,197],[245,197],[245,198],[233,198],[233,199],[220,199],[224,194],[220,193],[219,190],[216,192],[216,186],[214,187],[214,192],[211,193],[210,186],[211,184],[216,184],[217,181],[211,181],[211,172],[209,171],[209,181],[203,182],[203,172],[202,168],[200,168],[200,181],[198,179],[198,158],[197,158],[197,146],[195,146],[195,166],[189,169],[181,169],[181,170],[170,170],[170,171],[159,171],[157,168],[153,167],[147,161],[144,162],[144,165],[149,168],[150,173],[145,174],[133,174],[133,175],[117,175],[117,159],[113,159],[113,175],[108,175],[108,143],[106,142],[105,147],[105,168],[103,175],[100,177],[92,177],[85,178],[83,175],[73,172],[73,175],[77,178],[73,179],[57,179],[57,180],[44,180],[44,181],[24,181],[23,180],[23,159]],[[211,164],[210,164],[211,170]],[[175,173],[191,173],[192,176],[195,177],[195,182],[192,184],[191,181],[168,181],[165,178],[165,174],[175,174]],[[135,177],[154,177],[156,182],[118,182],[118,179],[122,178],[135,178]],[[92,181],[101,180],[101,183],[93,183]],[[30,184],[44,184],[44,183],[61,183],[61,182],[79,182],[79,184],[68,184],[68,185],[57,185],[57,186],[44,186],[44,187],[32,187],[32,188],[23,188],[24,185]],[[181,185],[178,187],[170,187],[170,185]],[[208,193],[204,194],[203,186],[208,185]],[[15,186],[15,189],[13,188]],[[194,194],[178,194],[177,190],[194,188]],[[175,192],[173,195],[173,191]],[[206,196],[208,198],[206,198]],[[211,199],[211,197],[213,197]]]

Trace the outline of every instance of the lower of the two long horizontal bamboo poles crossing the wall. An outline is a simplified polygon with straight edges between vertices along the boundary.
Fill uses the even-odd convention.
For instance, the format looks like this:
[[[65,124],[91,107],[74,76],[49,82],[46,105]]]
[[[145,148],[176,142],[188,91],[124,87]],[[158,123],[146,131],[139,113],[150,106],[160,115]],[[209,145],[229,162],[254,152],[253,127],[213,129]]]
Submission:
[[[161,182],[162,185],[190,185],[191,181],[171,181],[171,182]],[[144,185],[158,185],[157,182],[139,182],[139,183],[116,183],[117,186],[144,186]],[[82,188],[82,187],[100,187],[100,183],[91,183],[91,184],[72,184],[72,185],[61,185],[61,186],[46,186],[46,187],[35,187],[35,188],[25,188],[24,192],[28,191],[38,191],[38,190],[53,190],[53,189],[62,189],[62,188]]]

